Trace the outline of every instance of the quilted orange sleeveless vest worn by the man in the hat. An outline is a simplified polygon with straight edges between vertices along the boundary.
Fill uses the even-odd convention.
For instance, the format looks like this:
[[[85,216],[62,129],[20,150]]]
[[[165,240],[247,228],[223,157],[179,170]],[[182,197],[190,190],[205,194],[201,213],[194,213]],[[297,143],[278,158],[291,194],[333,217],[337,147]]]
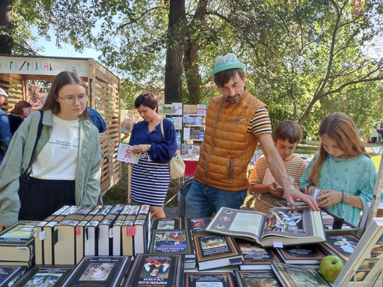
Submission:
[[[210,101],[196,181],[225,191],[248,189],[248,164],[258,144],[248,127],[260,108],[267,106],[247,90],[239,103],[228,103],[223,96]]]

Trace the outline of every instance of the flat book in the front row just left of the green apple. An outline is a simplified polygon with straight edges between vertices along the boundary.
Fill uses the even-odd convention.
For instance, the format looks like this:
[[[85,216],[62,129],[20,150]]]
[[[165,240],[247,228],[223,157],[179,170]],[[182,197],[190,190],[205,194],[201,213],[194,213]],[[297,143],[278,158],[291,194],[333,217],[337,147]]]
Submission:
[[[331,286],[321,273],[314,268],[272,262],[272,271],[274,271],[279,283],[283,287]]]

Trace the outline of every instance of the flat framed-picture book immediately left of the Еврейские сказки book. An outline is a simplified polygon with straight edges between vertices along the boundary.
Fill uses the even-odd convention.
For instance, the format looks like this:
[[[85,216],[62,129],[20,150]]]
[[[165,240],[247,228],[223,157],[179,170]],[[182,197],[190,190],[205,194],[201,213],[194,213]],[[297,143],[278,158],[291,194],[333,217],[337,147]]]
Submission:
[[[84,257],[62,284],[65,287],[120,287],[133,262],[128,256]]]

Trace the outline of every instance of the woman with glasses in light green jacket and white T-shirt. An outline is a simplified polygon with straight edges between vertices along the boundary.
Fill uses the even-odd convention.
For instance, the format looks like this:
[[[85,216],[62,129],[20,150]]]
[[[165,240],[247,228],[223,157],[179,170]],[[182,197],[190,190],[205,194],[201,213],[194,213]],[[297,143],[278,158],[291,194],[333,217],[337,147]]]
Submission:
[[[40,111],[20,125],[0,167],[0,230],[18,220],[43,220],[62,206],[97,203],[101,148],[87,100],[82,78],[60,72],[41,109],[34,152]],[[26,171],[26,183],[20,183]]]

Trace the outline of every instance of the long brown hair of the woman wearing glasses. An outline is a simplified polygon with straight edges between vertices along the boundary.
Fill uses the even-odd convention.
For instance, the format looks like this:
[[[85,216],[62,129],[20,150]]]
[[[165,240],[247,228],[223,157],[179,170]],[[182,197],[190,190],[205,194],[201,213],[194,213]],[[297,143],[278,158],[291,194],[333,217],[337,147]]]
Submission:
[[[41,108],[43,111],[52,110],[55,115],[60,112],[60,103],[56,101],[57,94],[62,89],[63,86],[71,85],[71,84],[79,84],[84,86],[85,91],[87,91],[87,86],[85,86],[84,81],[78,74],[74,72],[60,72],[57,74],[55,79],[52,82],[52,86],[48,92],[47,99]],[[81,115],[83,118],[89,119],[88,109],[85,108]]]

